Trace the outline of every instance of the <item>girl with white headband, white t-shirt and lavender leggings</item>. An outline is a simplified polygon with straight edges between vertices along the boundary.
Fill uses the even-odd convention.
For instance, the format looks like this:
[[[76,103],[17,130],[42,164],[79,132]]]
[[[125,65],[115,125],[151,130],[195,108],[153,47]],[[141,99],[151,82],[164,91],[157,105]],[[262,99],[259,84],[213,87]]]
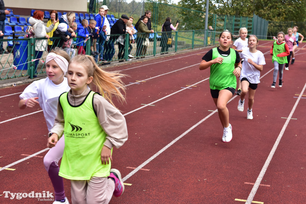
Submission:
[[[64,50],[59,48],[52,49],[46,58],[47,78],[34,81],[19,96],[21,98],[19,101],[20,109],[33,108],[39,104],[43,109],[48,131],[54,124],[58,97],[69,90],[67,78],[64,77],[68,69],[69,60],[69,55]],[[45,169],[54,187],[54,204],[69,203],[65,197],[63,178],[58,176],[58,161],[63,156],[64,146],[65,141],[62,138],[58,141],[56,148],[50,149],[43,159]]]

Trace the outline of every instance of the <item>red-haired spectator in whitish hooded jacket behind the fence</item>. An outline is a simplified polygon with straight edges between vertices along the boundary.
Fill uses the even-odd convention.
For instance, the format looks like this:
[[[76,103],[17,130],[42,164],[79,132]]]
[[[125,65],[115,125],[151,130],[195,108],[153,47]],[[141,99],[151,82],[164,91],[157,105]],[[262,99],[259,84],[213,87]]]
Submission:
[[[43,22],[43,12],[40,10],[36,10],[33,13],[33,17],[29,18],[29,23],[33,27],[33,31],[35,33],[34,38],[47,38],[49,39],[50,36],[47,35],[47,32],[51,32],[54,28],[54,25],[58,22],[58,20],[54,20],[53,23],[46,27]],[[36,39],[35,41],[35,59],[39,59],[43,56],[43,52],[46,50],[48,40],[47,39]],[[36,72],[37,65],[39,63],[39,60],[35,61],[35,67],[34,67],[34,73]],[[34,75],[36,77],[36,75]]]

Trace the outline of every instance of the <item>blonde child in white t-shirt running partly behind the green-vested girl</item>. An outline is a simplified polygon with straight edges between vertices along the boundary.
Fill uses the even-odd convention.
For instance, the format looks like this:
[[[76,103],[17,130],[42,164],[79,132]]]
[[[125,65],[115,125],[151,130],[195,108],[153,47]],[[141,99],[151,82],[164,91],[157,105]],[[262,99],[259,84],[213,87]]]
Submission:
[[[241,57],[241,52],[243,50],[248,50],[248,39],[246,38],[248,36],[248,29],[247,28],[240,28],[239,29],[239,36],[240,38],[238,38],[237,40],[235,40],[232,48],[234,50],[237,50],[237,52],[239,52],[240,58]],[[243,59],[241,60],[241,64],[243,63]],[[240,80],[238,80],[238,90],[237,90],[237,95],[240,95],[241,93],[241,82]]]

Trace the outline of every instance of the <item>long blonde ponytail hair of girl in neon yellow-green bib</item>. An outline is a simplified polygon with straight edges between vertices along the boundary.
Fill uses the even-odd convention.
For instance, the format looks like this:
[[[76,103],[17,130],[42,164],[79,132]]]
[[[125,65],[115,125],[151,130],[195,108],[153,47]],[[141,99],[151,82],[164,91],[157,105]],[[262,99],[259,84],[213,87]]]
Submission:
[[[113,106],[112,95],[115,95],[120,102],[124,102],[124,95],[119,91],[125,93],[125,87],[121,81],[121,77],[126,75],[120,74],[119,72],[106,72],[95,63],[93,57],[89,55],[77,55],[70,60],[69,64],[77,63],[83,66],[87,73],[88,77],[93,77],[92,82],[88,85],[92,91],[99,91],[103,97],[108,100]],[[95,89],[95,90],[93,90]]]

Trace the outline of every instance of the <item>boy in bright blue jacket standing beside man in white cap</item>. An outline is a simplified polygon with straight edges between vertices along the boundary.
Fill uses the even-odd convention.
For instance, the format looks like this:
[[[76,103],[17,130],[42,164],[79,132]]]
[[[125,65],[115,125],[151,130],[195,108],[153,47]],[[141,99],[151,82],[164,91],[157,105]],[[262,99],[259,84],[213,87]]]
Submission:
[[[107,8],[107,6],[106,6]],[[103,30],[103,26],[106,25],[106,22],[108,23],[106,17],[104,17],[104,13],[105,13],[105,10],[103,7],[99,8],[99,13],[97,13],[95,15],[95,21],[97,22],[97,27],[99,27],[99,37],[97,38],[97,51],[98,53],[100,53],[99,55],[96,55],[95,56],[95,59],[98,61],[102,61],[102,62],[106,62],[105,60],[103,60],[103,51],[104,51],[104,43],[105,43],[105,39],[104,38],[104,33],[102,33],[102,30]],[[106,13],[107,13],[107,10],[106,10]],[[108,24],[108,27],[110,25]],[[109,29],[109,32],[110,32],[110,29]]]

